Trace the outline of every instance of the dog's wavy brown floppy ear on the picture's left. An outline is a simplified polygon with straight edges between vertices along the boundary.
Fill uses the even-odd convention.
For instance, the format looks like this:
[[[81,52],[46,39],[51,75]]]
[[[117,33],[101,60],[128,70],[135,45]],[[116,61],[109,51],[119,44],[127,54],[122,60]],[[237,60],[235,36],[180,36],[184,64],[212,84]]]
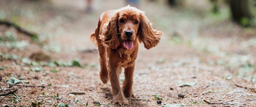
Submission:
[[[103,35],[100,35],[100,39],[106,43],[110,48],[116,49],[119,45],[118,42],[118,17],[116,13],[111,19]]]

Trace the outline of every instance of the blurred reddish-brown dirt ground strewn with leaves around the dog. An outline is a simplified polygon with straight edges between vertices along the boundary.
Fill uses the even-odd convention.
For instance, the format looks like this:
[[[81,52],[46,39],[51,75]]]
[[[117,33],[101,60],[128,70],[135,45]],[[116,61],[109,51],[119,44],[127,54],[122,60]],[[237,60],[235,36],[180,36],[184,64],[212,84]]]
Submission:
[[[0,93],[18,89],[17,97],[1,96],[0,106],[26,107],[40,102],[41,107],[107,103],[120,107],[110,102],[110,82],[103,88],[98,53],[89,37],[102,12],[125,5],[116,0],[94,0],[88,13],[84,0],[1,0],[0,19],[36,32],[42,43],[0,25],[0,37],[8,38],[0,41]],[[164,35],[150,50],[140,44],[133,84],[136,98],[129,99],[125,107],[256,107],[255,27],[232,23],[228,7],[220,5],[220,14],[214,15],[208,0],[184,0],[176,8],[164,0],[140,2],[153,27]],[[10,42],[7,35],[15,40]],[[50,58],[34,61],[38,52]],[[12,77],[24,84],[8,84]],[[121,83],[123,80],[121,73]],[[161,104],[154,95],[162,97]]]

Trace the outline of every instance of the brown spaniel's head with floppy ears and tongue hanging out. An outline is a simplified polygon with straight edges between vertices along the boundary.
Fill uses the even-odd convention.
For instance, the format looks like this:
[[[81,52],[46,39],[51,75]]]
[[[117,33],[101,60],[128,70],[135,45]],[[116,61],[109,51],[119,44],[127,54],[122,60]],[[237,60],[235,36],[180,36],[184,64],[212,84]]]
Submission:
[[[159,43],[162,32],[151,27],[145,12],[126,6],[116,10],[103,35],[103,41],[112,49],[116,49],[118,45],[132,49],[136,41],[144,43],[144,47],[150,49]]]

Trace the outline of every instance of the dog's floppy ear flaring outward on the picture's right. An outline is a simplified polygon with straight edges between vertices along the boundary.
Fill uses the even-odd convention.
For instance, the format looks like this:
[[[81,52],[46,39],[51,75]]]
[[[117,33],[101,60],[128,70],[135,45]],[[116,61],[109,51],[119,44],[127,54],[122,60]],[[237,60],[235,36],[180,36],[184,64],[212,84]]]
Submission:
[[[162,36],[162,31],[153,29],[149,23],[148,18],[144,15],[144,13],[141,13],[140,27],[138,29],[137,36],[140,43],[142,42],[146,49],[150,49],[159,43],[159,40]]]

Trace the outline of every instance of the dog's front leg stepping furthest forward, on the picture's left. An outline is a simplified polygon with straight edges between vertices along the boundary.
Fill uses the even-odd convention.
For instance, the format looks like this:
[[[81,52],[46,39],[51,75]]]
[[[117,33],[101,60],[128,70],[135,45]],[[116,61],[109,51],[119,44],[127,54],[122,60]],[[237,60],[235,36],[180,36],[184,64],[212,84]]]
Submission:
[[[109,65],[108,74],[112,87],[112,93],[114,98],[114,103],[119,103],[121,105],[128,105],[128,100],[122,94],[120,83],[119,83],[119,71],[120,66]]]

